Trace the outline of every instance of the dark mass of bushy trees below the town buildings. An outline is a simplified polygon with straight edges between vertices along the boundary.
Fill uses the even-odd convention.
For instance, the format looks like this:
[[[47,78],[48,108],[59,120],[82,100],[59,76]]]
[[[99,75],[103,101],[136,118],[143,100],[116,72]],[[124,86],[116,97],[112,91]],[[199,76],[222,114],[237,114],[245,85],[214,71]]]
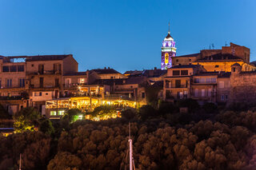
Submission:
[[[0,137],[0,169],[17,169],[20,153],[22,169],[124,169],[129,121],[138,169],[256,169],[253,106],[237,112],[188,100],[126,109],[108,121],[70,121],[75,110],[53,122],[33,109],[23,114],[39,130]]]

